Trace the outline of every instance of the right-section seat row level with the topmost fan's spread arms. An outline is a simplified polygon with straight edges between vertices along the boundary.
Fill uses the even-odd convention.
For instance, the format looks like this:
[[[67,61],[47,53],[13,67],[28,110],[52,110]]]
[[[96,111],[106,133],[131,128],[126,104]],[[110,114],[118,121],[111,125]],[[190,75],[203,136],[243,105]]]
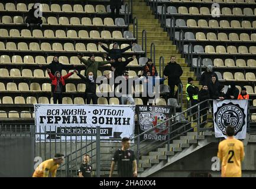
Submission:
[[[189,45],[184,45],[184,53],[189,52]],[[194,53],[208,53],[208,54],[256,54],[256,46],[251,46],[248,48],[244,45],[240,45],[236,48],[234,45],[229,45],[224,47],[223,45],[217,45],[216,51],[213,45],[206,45],[205,50],[202,45],[195,45],[193,49]]]

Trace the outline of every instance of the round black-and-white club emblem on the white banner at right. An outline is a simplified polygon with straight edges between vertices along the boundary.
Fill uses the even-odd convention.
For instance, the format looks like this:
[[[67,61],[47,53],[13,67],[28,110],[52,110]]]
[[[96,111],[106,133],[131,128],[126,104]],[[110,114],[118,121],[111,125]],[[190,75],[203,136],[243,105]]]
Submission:
[[[214,113],[214,122],[218,126],[219,130],[226,135],[226,126],[234,126],[235,134],[242,131],[242,127],[245,125],[245,113],[244,109],[239,105],[233,103],[223,103],[218,107]]]

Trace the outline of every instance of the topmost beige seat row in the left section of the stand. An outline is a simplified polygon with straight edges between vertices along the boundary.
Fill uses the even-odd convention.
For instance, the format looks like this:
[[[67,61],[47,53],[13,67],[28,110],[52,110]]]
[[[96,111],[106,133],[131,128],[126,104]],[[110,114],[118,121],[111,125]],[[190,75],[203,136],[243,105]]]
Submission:
[[[28,10],[31,9],[31,7],[34,4],[28,4],[28,7],[26,4],[24,3],[18,3],[17,6],[15,6],[15,4],[13,3],[7,3],[7,4],[2,4],[0,3],[0,11],[22,11],[22,12],[26,12]],[[111,12],[111,9],[109,6],[104,6],[104,5],[96,5],[95,7],[93,5],[85,5],[83,8],[83,5],[80,4],[75,4],[72,5],[70,4],[63,4],[63,5],[59,5],[59,4],[51,4],[51,6],[49,6],[48,4],[41,4],[41,11],[43,12],[85,12],[85,13],[106,13]],[[122,6],[122,8],[120,9],[120,12],[125,12],[125,7]]]

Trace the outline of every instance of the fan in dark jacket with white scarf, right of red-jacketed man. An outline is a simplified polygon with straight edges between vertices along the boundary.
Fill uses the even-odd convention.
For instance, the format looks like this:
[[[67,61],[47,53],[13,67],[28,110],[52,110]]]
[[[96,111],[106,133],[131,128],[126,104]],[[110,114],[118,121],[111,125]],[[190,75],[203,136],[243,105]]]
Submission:
[[[83,75],[81,75],[80,73],[78,73],[78,71],[76,71],[77,76],[79,76],[86,85],[85,88],[85,103],[86,104],[90,104],[90,100],[92,100],[93,105],[98,104],[97,100],[98,97],[96,95],[96,78],[93,76],[92,71],[90,71],[88,73],[88,76],[85,77]]]

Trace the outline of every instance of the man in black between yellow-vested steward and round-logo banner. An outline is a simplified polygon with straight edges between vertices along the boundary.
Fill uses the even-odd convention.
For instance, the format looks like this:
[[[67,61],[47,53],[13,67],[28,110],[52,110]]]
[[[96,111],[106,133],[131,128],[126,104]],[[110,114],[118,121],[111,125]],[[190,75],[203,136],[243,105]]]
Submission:
[[[203,102],[204,100],[207,100],[210,98],[210,94],[208,91],[208,86],[207,85],[203,85],[202,89],[199,91],[198,93],[198,99],[200,102]],[[201,126],[205,126],[206,122],[207,122],[207,110],[208,110],[208,102],[203,102],[200,104],[200,117],[203,117],[203,120],[201,122],[200,119],[200,123]]]

